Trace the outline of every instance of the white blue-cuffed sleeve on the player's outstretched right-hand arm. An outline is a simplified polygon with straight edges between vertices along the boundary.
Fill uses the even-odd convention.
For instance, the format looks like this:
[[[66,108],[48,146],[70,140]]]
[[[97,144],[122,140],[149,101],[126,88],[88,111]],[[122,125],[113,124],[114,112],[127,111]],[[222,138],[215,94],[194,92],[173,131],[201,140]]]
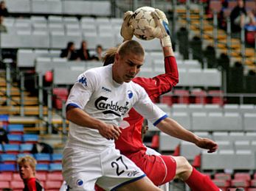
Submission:
[[[138,85],[139,86],[139,85]],[[134,104],[134,109],[144,118],[148,119],[156,126],[161,120],[167,118],[167,114],[157,107],[148,97],[142,87],[138,88],[138,100]]]

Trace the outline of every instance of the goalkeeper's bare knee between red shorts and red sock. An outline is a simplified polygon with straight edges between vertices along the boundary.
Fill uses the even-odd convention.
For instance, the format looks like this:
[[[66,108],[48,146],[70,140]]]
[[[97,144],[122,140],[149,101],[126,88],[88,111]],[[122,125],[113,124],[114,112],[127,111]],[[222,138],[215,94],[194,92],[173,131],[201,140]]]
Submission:
[[[193,170],[190,162],[184,156],[177,156],[176,165],[176,178],[181,180],[187,179]]]

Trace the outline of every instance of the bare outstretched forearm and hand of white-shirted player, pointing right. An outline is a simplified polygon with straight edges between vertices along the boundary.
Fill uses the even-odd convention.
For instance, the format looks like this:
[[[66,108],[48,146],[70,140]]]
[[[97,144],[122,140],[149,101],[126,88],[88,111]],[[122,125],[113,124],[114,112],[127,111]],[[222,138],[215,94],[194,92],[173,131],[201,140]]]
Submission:
[[[195,143],[198,147],[207,149],[209,153],[215,152],[218,148],[217,143],[214,141],[198,137],[193,132],[184,129],[176,120],[171,118],[165,118],[156,125],[161,131],[169,134],[172,137],[176,137],[181,140],[185,140],[191,143]]]

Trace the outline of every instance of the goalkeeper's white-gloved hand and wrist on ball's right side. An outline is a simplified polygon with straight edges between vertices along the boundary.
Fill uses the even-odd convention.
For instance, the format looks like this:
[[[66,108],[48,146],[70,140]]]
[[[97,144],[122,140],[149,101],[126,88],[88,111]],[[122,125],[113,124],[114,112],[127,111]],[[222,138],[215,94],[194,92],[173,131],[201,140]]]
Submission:
[[[168,27],[168,20],[165,12],[156,9],[151,12],[151,15],[156,23],[156,28],[151,26],[145,26],[145,28],[153,35],[153,37],[157,37],[161,40],[163,47],[172,46],[170,41],[170,29]]]

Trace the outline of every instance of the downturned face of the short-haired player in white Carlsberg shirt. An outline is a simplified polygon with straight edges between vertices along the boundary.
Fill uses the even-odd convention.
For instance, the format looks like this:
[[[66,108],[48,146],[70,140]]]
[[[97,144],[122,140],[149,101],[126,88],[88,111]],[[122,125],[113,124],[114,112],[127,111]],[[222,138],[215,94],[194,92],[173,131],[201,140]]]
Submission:
[[[142,55],[127,54],[124,57],[116,55],[118,65],[117,73],[114,75],[114,80],[118,83],[131,82],[132,79],[139,73],[143,65],[144,57]]]

